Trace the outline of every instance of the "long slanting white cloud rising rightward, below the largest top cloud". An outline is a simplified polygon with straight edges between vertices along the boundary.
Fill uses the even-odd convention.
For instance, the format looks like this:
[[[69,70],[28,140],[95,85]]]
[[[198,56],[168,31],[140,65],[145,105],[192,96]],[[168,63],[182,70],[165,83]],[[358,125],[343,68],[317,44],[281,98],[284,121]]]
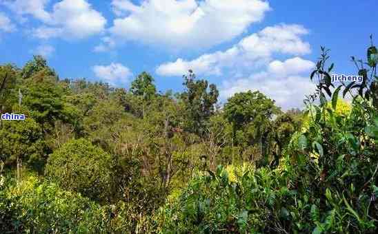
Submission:
[[[197,74],[221,75],[225,68],[239,70],[255,69],[269,63],[274,54],[303,55],[310,52],[310,44],[302,41],[301,35],[307,34],[301,25],[275,25],[260,32],[241,39],[237,45],[226,51],[203,54],[192,61],[178,58],[175,62],[163,63],[157,67],[157,74],[161,76],[181,76],[188,70]],[[295,58],[298,59],[298,58]],[[297,61],[286,61],[296,63]],[[296,63],[297,64],[297,63]],[[308,64],[299,64],[308,66]],[[278,69],[279,64],[273,63],[272,70]]]

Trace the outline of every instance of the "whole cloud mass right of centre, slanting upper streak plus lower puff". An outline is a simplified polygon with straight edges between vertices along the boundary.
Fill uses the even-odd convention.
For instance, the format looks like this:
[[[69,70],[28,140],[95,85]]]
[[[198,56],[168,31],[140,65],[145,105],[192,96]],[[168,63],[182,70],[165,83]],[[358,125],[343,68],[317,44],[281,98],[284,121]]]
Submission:
[[[237,92],[259,90],[276,100],[283,109],[302,107],[305,94],[315,91],[307,78],[315,63],[300,56],[310,53],[310,45],[301,36],[308,30],[301,25],[275,25],[246,36],[239,43],[191,61],[178,58],[163,63],[156,73],[181,76],[188,70],[196,74],[226,77],[219,86],[221,100]],[[284,60],[276,56],[288,57]]]

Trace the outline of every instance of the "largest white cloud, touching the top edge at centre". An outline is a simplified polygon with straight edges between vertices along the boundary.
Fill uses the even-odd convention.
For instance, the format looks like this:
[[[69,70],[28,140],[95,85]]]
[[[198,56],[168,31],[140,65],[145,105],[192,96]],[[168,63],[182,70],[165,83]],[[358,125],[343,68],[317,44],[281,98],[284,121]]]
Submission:
[[[210,47],[245,32],[270,10],[262,0],[113,0],[112,36],[181,49]],[[227,16],[227,17],[225,17]]]

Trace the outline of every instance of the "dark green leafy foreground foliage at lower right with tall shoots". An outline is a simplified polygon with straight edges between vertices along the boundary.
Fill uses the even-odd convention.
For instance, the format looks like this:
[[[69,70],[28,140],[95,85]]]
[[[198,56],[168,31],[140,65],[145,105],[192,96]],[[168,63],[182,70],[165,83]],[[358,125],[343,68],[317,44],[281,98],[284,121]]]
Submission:
[[[377,232],[377,109],[366,96],[368,85],[362,83],[344,85],[344,93],[358,89],[358,94],[350,111],[337,110],[341,87],[330,91],[328,72],[333,65],[325,69],[327,53],[322,48],[311,75],[319,78],[319,84],[305,100],[308,127],[292,135],[278,167],[248,169],[236,180],[221,166],[204,171],[177,200],[161,208],[156,219],[163,232]],[[332,98],[331,104],[326,95]],[[248,111],[237,110],[228,107],[232,114]],[[240,126],[248,118],[240,115],[235,120]],[[282,116],[277,122],[281,120],[288,118]]]

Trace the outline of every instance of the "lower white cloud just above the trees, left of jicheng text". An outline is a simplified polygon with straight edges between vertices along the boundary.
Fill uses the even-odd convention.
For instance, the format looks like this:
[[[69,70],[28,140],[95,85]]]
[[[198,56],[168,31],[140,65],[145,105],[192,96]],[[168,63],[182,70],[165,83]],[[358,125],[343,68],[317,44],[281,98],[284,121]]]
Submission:
[[[277,64],[279,69],[275,69]],[[284,68],[281,65],[284,65]],[[259,90],[274,99],[283,109],[301,108],[305,95],[315,92],[315,84],[307,75],[313,67],[315,63],[298,57],[289,58],[284,62],[273,61],[266,71],[257,72],[248,78],[224,81],[220,96],[224,100],[238,92]]]

